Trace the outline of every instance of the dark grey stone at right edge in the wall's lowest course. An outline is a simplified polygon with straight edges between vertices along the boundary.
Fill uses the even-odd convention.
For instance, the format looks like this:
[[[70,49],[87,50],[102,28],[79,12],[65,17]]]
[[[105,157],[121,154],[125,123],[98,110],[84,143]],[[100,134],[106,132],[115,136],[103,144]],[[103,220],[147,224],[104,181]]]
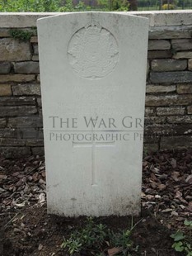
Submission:
[[[160,149],[184,149],[192,146],[192,136],[162,137]]]

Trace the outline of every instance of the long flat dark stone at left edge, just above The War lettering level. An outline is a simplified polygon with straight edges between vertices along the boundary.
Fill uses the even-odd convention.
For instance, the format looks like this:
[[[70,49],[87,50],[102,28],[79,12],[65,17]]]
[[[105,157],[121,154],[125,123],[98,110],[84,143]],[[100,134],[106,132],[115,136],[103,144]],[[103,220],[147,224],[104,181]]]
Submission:
[[[1,107],[0,116],[28,116],[36,112],[35,106]]]

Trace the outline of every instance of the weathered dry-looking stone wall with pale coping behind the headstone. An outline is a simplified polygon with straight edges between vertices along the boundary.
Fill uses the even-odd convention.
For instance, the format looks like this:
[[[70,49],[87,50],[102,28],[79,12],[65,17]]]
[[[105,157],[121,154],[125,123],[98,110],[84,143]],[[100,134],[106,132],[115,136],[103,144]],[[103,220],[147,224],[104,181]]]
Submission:
[[[192,12],[133,13],[150,20],[145,147],[191,147]],[[0,14],[0,152],[6,157],[44,154],[35,24],[49,15]]]

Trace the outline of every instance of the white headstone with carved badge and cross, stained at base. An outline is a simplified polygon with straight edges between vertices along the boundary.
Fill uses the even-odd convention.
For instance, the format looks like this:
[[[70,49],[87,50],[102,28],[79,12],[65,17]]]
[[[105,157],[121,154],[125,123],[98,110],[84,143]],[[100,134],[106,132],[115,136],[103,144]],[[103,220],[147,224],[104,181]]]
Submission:
[[[38,20],[49,213],[138,215],[148,19]]]

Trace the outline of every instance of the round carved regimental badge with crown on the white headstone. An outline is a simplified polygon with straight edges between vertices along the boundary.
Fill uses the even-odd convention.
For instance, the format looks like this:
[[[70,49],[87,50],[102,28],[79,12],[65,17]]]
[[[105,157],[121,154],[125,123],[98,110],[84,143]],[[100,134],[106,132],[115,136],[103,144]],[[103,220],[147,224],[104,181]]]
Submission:
[[[115,37],[105,28],[91,23],[71,38],[68,59],[82,78],[103,78],[115,69],[119,50]]]

